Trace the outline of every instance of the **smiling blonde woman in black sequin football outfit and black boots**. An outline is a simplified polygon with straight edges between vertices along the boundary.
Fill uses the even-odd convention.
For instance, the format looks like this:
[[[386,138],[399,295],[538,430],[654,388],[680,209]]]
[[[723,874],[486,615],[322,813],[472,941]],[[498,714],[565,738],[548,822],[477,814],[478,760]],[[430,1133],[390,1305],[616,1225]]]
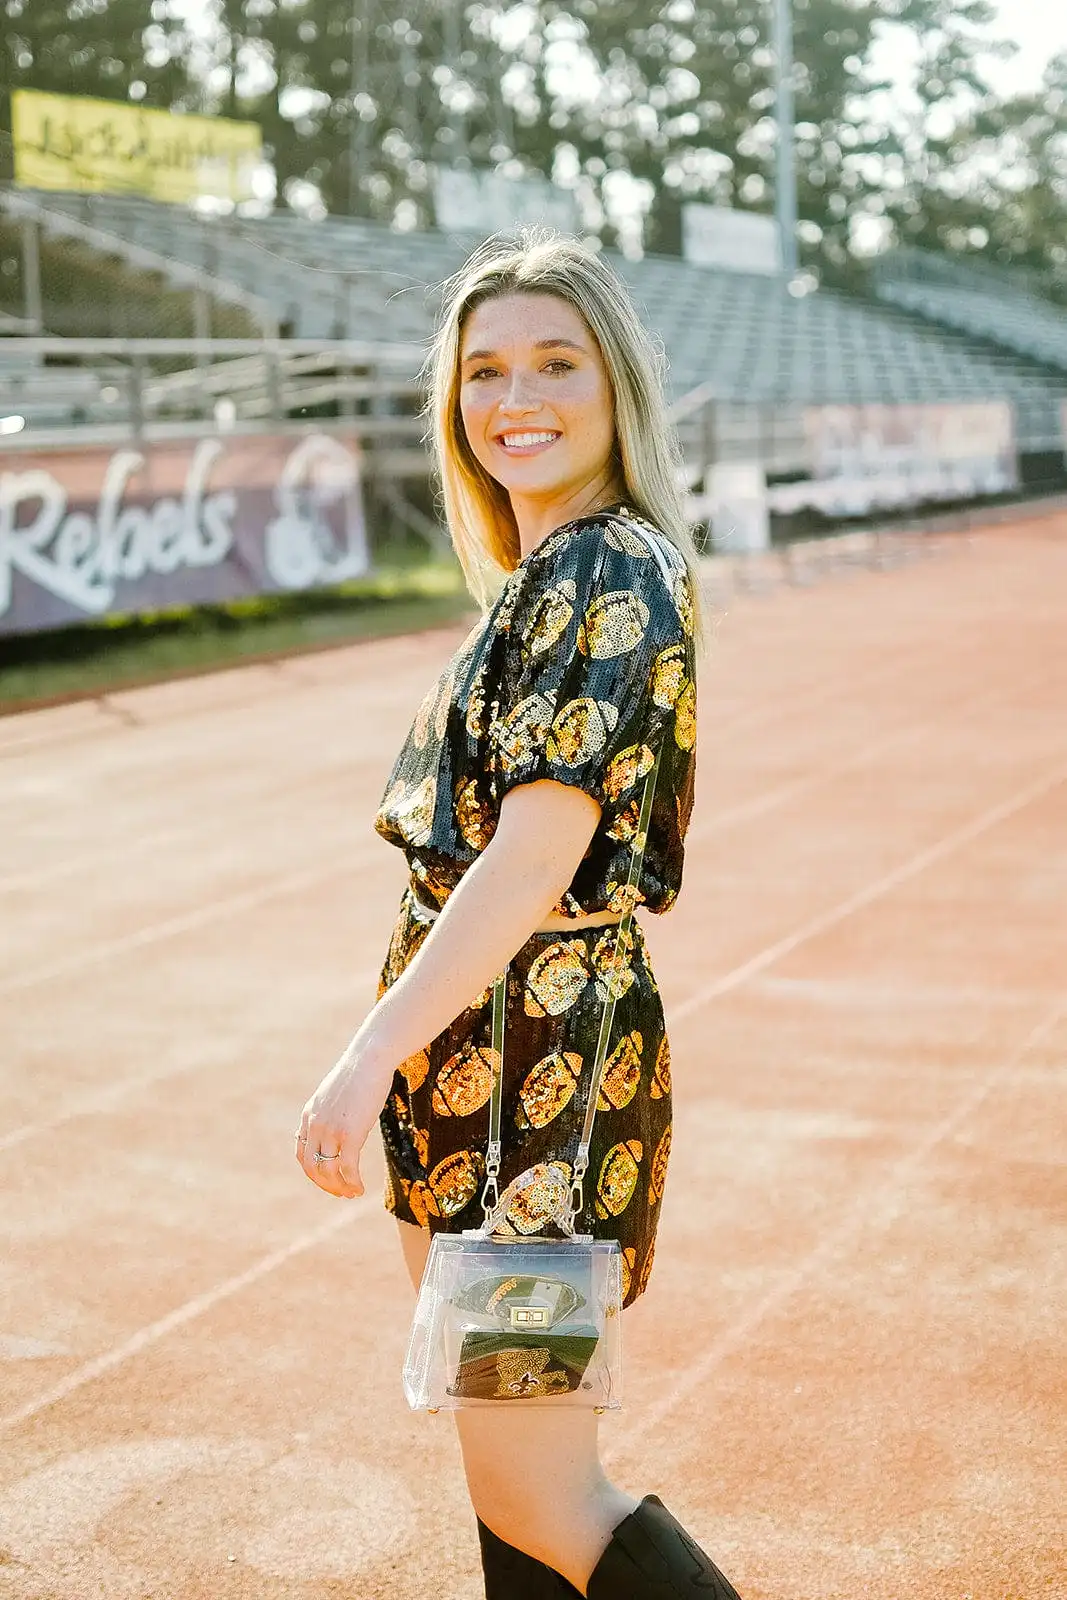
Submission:
[[[614,941],[661,746],[635,901],[662,914],[678,894],[707,627],[661,357],[598,256],[526,234],[451,280],[429,376],[483,618],[389,776],[374,827],[410,882],[378,1003],[307,1101],[296,1155],[328,1194],[360,1195],[381,1114],[386,1205],[418,1285],[434,1230],[482,1222],[493,979],[507,970],[501,1192],[537,1163],[569,1176],[613,979],[581,1230],[619,1240],[629,1306],[653,1266],[670,1051],[638,920],[617,966]],[[656,1496],[606,1478],[593,1411],[453,1414],[490,1600],[737,1600]]]

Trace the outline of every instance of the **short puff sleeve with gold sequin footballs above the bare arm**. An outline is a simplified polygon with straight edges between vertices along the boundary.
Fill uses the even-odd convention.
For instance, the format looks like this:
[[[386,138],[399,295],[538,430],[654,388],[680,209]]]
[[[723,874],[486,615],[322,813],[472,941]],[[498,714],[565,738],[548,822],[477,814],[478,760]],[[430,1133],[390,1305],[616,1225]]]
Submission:
[[[555,550],[534,552],[514,574],[518,592],[490,726],[496,798],[553,778],[603,808],[624,806],[694,677],[688,573],[669,546],[669,586],[648,541],[611,523],[549,539]]]

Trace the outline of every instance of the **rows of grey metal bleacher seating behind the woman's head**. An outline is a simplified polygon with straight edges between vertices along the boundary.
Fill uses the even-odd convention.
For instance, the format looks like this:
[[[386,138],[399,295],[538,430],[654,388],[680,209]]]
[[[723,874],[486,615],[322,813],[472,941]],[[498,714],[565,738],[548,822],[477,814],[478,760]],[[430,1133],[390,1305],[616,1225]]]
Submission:
[[[195,275],[200,293],[219,286],[230,304],[253,309],[264,330],[306,341],[382,341],[413,355],[430,333],[442,282],[477,242],[346,218],[218,219],[115,195],[0,190],[0,206],[35,218],[45,237],[74,224],[83,240],[91,232],[98,248],[134,264],[171,262]],[[859,299],[827,290],[798,294],[781,278],[675,258],[609,259],[662,339],[677,405],[701,392],[739,411],[774,408],[787,422],[805,405],[1006,400],[1022,453],[1061,448],[1067,322],[1051,307],[1046,323],[1064,341],[1062,370],[1049,362],[1048,341],[1033,328],[1025,333],[1035,315],[1025,298],[1014,312],[1001,294],[997,336],[966,312],[958,290],[957,320],[947,326],[936,307],[885,293],[888,280],[880,280],[880,299]],[[920,288],[933,294],[909,285],[917,294]],[[1003,336],[1008,323],[1019,328],[1014,342]]]

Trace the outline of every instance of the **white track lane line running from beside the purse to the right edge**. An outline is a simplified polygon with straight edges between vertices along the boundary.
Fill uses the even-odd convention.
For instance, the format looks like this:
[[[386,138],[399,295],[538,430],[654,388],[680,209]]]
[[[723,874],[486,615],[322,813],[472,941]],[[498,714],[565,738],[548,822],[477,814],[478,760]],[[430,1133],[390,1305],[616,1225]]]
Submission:
[[[1053,1010],[1046,1011],[1046,1014],[1030,1029],[1022,1043],[1011,1051],[1006,1061],[982,1078],[982,1082],[960,1101],[957,1109],[949,1112],[947,1117],[931,1128],[926,1136],[907,1152],[907,1155],[902,1155],[899,1162],[894,1162],[888,1168],[881,1182],[856,1202],[840,1227],[835,1227],[830,1234],[827,1234],[814,1246],[814,1250],[811,1250],[795,1267],[789,1269],[779,1282],[766,1291],[766,1294],[760,1296],[753,1306],[728,1323],[721,1333],[712,1339],[704,1355],[685,1370],[681,1381],[648,1408],[648,1411],[641,1416],[640,1424],[627,1432],[625,1440],[621,1440],[614,1450],[608,1451],[608,1459],[624,1459],[629,1451],[648,1440],[648,1435],[653,1434],[654,1429],[657,1429],[677,1406],[683,1405],[693,1390],[707,1382],[709,1376],[720,1365],[720,1362],[723,1362],[728,1355],[733,1355],[733,1352],[760,1326],[760,1323],[779,1312],[787,1301],[790,1301],[792,1296],[819,1272],[821,1267],[824,1267],[838,1251],[849,1246],[857,1234],[861,1234],[865,1227],[888,1226],[893,1222],[904,1202],[902,1190],[915,1170],[921,1166],[926,1157],[931,1155],[939,1144],[950,1138],[968,1120],[968,1117],[979,1109],[982,1101],[989,1099],[993,1090],[1008,1082],[1013,1070],[1022,1066],[1027,1053],[1033,1050],[1035,1045],[1040,1045],[1064,1016],[1067,1016],[1067,1000],[1061,997]]]

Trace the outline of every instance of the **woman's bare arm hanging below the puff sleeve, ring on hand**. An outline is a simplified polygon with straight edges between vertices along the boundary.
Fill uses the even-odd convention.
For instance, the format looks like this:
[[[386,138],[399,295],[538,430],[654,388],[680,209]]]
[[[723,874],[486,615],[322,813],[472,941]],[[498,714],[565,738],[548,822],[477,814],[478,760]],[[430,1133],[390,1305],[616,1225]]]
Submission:
[[[600,805],[539,779],[510,789],[496,832],[467,867],[418,955],[378,1000],[304,1107],[298,1160],[330,1194],[363,1192],[358,1154],[402,1061],[430,1043],[504,971],[585,854]],[[315,1150],[339,1160],[315,1163]]]

